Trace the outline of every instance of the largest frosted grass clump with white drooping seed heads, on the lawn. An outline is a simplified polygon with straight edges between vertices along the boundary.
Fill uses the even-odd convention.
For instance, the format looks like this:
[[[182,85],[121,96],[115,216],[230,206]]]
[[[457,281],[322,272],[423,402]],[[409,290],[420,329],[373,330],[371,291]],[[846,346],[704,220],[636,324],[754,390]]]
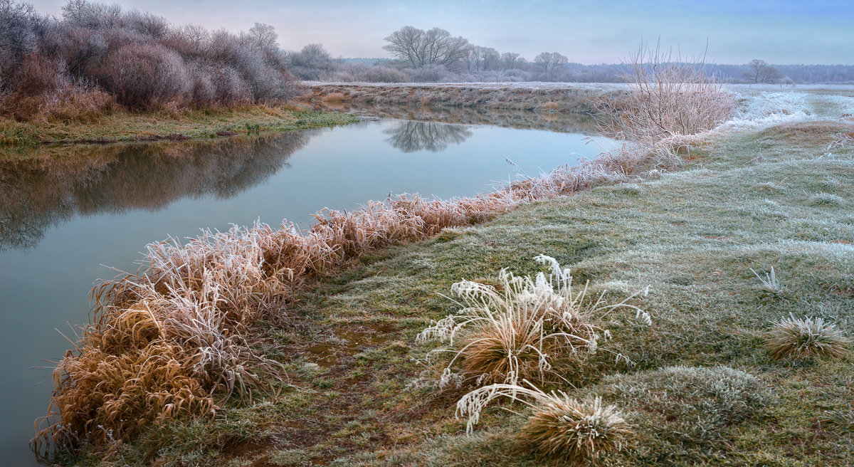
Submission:
[[[548,274],[519,277],[503,269],[498,276],[501,289],[467,280],[453,284],[451,292],[459,297],[460,310],[418,335],[418,341],[439,339],[450,345],[434,351],[453,354],[441,385],[456,379],[452,369],[458,360],[463,374],[478,382],[542,378],[556,357],[581,359],[596,352],[598,341],[608,333],[591,324],[590,318],[624,307],[650,319],[627,303],[647,289],[611,304],[605,301],[605,291],[590,296],[588,284],[574,288],[570,270],[554,258],[541,254],[535,260],[549,266]]]

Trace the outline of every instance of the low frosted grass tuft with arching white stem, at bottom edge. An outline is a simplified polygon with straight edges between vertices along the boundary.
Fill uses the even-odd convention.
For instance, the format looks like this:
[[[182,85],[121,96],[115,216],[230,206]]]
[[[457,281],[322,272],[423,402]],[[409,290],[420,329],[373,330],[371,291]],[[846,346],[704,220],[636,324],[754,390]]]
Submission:
[[[471,432],[480,412],[493,400],[506,397],[529,406],[531,416],[518,432],[526,451],[541,460],[561,464],[594,461],[623,449],[633,436],[629,423],[615,406],[596,397],[576,400],[563,392],[544,393],[533,385],[493,384],[471,391],[457,402],[457,415],[467,416]]]

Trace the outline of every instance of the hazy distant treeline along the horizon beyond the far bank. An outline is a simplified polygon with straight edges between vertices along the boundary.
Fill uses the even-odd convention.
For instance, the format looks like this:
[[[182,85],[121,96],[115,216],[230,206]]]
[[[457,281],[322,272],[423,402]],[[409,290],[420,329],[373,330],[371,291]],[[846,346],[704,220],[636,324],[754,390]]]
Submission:
[[[619,64],[572,63],[559,52],[541,52],[527,60],[514,52],[471,44],[434,27],[405,26],[385,38],[394,58],[341,58],[323,70],[295,72],[302,79],[324,81],[566,81],[623,82],[629,71]],[[312,44],[315,51],[322,46]],[[695,65],[695,64],[692,64]],[[313,73],[312,73],[313,72]],[[395,73],[397,72],[397,73]],[[854,83],[854,65],[770,65],[757,59],[744,65],[705,64],[705,72],[734,83]],[[402,73],[402,76],[401,76]]]

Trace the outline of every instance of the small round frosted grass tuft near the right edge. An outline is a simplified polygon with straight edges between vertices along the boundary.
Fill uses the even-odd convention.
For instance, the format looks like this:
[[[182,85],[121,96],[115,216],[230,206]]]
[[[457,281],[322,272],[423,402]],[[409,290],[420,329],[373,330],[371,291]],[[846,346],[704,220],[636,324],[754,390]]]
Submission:
[[[775,322],[765,342],[772,359],[839,358],[851,340],[823,318],[789,315]]]

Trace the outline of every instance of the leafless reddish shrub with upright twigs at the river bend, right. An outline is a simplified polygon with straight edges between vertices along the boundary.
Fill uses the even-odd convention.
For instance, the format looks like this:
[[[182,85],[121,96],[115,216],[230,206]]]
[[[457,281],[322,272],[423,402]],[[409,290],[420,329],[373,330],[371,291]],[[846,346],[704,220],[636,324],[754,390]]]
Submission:
[[[629,92],[599,103],[603,129],[616,137],[655,148],[664,140],[678,146],[726,121],[734,97],[705,75],[705,59],[683,63],[680,56],[640,44],[629,57]]]

